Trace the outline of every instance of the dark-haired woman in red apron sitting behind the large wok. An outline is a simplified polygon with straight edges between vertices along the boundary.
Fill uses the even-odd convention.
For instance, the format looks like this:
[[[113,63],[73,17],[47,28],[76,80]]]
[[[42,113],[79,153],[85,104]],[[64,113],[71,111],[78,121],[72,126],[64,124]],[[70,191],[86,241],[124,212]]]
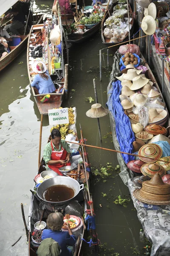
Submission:
[[[71,151],[65,140],[61,140],[61,133],[57,129],[51,132],[51,141],[45,146],[43,151],[43,160],[46,163],[46,169],[57,172],[63,176],[59,168],[70,166],[69,157]]]

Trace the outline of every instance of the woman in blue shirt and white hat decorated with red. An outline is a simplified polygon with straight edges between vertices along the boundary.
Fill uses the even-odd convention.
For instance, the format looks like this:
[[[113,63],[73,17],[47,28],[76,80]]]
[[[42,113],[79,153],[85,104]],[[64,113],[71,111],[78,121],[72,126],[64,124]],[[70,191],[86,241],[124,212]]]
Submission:
[[[31,86],[37,88],[39,94],[55,93],[55,85],[43,61],[35,61],[32,64],[32,70],[38,74],[31,82]]]

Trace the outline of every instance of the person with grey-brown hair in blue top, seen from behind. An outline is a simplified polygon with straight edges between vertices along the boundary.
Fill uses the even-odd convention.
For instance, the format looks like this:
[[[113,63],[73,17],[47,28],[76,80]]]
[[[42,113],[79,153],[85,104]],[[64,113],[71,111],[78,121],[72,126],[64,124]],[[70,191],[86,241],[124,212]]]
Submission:
[[[69,223],[64,224],[68,231],[61,230],[63,223],[61,212],[50,213],[46,222],[48,229],[43,230],[42,240],[46,238],[54,239],[61,247],[60,256],[72,256],[76,237],[72,234]]]

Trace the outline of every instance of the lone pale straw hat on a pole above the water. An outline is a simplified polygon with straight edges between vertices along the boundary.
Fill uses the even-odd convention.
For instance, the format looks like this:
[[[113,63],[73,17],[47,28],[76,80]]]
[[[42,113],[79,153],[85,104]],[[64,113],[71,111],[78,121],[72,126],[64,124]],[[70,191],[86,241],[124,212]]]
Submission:
[[[92,118],[98,118],[98,117],[103,117],[106,116],[109,113],[107,108],[102,108],[101,104],[93,104],[91,106],[91,109],[89,109],[86,112],[86,116],[92,117]]]

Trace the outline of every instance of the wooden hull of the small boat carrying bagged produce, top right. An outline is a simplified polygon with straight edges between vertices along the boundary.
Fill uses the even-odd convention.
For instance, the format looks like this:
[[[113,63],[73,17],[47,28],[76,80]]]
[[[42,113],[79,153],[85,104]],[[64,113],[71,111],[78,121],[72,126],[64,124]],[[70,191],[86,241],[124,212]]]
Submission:
[[[105,16],[105,18],[104,18],[104,20],[101,24],[101,39],[103,41],[103,44],[107,44],[108,46],[118,44],[119,42],[121,43],[123,41],[127,41],[128,36],[129,36],[129,34],[127,34],[126,36],[124,36],[124,38],[121,38],[121,39],[116,38],[115,42],[110,42],[110,39],[105,38],[105,36],[104,36],[104,28],[105,28],[104,23],[107,20],[107,18],[112,15],[113,8],[116,4],[115,3],[112,4],[111,8],[107,11],[107,14],[106,14],[106,16]],[[130,25],[132,26],[131,29],[130,29],[130,36],[132,36],[133,35],[133,29],[134,29],[134,19],[133,19],[133,11],[132,11],[132,8],[131,8],[130,4],[129,4],[129,12],[130,12],[130,17],[132,18],[132,20],[130,22]],[[124,17],[127,17],[127,14],[124,15]]]

